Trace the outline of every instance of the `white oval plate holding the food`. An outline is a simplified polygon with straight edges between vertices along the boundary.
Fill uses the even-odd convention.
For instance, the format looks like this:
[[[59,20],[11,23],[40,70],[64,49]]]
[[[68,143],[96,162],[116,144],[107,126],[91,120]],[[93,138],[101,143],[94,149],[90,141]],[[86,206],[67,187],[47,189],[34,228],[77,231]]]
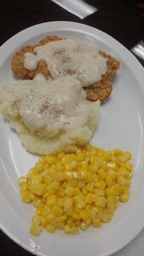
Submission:
[[[123,45],[98,29],[75,22],[47,22],[25,29],[13,36],[0,48],[0,83],[15,83],[10,60],[17,49],[34,44],[45,35],[73,38],[86,44],[98,45],[115,56],[121,66],[113,78],[113,92],[101,104],[99,127],[92,140],[94,145],[106,149],[119,147],[133,155],[134,176],[131,200],[120,204],[111,223],[101,228],[88,228],[77,236],[63,232],[39,237],[29,234],[31,204],[20,200],[17,180],[28,172],[38,157],[26,152],[8,122],[0,119],[0,227],[20,246],[37,255],[51,256],[106,256],[129,243],[144,226],[144,72],[138,60]]]

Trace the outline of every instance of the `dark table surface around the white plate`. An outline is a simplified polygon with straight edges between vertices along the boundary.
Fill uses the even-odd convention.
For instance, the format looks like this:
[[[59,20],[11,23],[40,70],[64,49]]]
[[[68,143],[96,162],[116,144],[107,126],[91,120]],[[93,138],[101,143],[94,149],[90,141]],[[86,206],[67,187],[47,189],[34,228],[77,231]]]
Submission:
[[[87,0],[86,3],[92,4],[98,11],[80,19],[50,0],[1,0],[0,45],[22,29],[53,20],[68,20],[93,26],[113,36],[129,50],[143,40],[143,1]],[[144,62],[140,61],[144,66]],[[31,255],[1,231],[0,241],[1,256],[12,253],[15,256]]]

